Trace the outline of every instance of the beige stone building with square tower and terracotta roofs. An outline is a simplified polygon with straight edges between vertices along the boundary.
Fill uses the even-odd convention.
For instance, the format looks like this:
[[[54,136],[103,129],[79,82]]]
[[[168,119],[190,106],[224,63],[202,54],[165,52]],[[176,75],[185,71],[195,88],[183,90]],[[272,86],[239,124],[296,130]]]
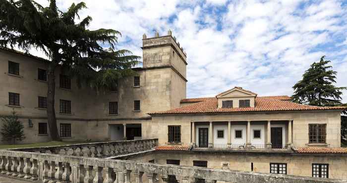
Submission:
[[[186,98],[186,54],[171,31],[144,35],[142,49],[143,67],[118,81],[114,91],[78,88],[57,69],[63,140],[158,138],[155,152],[125,159],[347,179],[347,149],[340,147],[344,107],[302,105],[289,96],[258,96],[241,87]],[[49,140],[48,62],[0,49],[0,115],[17,112],[25,127],[23,143]]]

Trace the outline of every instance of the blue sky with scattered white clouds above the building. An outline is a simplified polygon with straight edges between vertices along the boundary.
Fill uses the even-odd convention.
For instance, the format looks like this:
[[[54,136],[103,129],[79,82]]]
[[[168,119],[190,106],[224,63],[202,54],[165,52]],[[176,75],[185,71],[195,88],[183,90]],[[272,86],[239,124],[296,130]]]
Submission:
[[[37,0],[47,5],[47,0]],[[57,0],[66,10],[72,2]],[[347,87],[346,0],[84,0],[89,29],[121,32],[118,48],[142,56],[142,35],[173,36],[187,53],[187,97],[234,86],[259,96],[291,95],[292,86],[326,55]],[[37,50],[32,54],[43,56]],[[343,101],[347,102],[347,91]]]

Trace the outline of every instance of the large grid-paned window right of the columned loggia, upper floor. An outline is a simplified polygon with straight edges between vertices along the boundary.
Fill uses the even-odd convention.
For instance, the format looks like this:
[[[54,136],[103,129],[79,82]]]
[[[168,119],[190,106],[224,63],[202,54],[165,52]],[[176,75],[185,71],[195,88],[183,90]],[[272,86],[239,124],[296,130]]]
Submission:
[[[326,142],[327,124],[308,124],[309,143]]]

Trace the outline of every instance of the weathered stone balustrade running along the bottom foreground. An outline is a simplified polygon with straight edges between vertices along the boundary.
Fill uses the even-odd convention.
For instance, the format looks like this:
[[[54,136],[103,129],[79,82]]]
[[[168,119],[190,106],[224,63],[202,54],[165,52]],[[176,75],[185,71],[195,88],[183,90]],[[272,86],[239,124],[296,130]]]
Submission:
[[[0,174],[44,183],[347,183],[343,180],[307,178],[232,170],[138,163],[127,160],[61,154],[0,150]]]

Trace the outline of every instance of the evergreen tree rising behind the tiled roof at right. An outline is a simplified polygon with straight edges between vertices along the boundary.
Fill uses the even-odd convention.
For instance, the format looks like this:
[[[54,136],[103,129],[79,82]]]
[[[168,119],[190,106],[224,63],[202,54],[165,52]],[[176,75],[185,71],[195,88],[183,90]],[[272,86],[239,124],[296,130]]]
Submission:
[[[319,62],[311,64],[310,68],[302,75],[302,80],[294,86],[293,102],[316,105],[336,106],[341,105],[342,91],[346,87],[335,87],[336,71],[327,65],[330,60],[322,56]]]

